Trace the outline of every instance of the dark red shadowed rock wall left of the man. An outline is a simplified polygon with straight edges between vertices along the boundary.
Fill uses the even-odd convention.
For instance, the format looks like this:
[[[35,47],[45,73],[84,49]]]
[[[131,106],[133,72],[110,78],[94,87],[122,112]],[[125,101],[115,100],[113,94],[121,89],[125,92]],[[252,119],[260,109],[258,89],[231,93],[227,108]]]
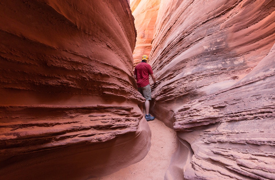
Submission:
[[[128,1],[6,0],[0,24],[0,179],[87,179],[147,154]]]

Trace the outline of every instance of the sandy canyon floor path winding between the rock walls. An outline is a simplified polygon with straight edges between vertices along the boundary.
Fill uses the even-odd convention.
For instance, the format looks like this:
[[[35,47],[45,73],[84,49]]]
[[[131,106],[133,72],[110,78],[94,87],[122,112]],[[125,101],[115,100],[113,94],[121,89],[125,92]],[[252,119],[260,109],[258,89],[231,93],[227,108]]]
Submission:
[[[151,147],[144,159],[111,175],[89,180],[164,179],[171,156],[177,147],[176,132],[158,119],[148,121],[148,124],[152,131]]]

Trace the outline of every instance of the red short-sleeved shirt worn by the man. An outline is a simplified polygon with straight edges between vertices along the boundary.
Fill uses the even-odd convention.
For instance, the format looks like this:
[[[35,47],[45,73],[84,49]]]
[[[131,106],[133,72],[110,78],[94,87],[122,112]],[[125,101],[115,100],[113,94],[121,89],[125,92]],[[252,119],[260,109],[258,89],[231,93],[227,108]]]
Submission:
[[[150,64],[141,61],[134,71],[134,75],[137,75],[137,85],[138,87],[144,87],[149,84],[149,74],[153,74],[152,67]]]

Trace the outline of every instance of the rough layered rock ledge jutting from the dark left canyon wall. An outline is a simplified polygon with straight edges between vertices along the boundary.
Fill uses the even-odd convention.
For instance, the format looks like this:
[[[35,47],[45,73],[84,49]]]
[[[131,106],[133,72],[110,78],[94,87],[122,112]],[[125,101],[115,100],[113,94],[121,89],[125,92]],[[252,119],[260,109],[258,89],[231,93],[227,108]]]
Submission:
[[[132,106],[1,106],[1,159],[135,133],[143,115]],[[12,121],[13,120],[13,121]],[[69,139],[69,141],[68,141]]]

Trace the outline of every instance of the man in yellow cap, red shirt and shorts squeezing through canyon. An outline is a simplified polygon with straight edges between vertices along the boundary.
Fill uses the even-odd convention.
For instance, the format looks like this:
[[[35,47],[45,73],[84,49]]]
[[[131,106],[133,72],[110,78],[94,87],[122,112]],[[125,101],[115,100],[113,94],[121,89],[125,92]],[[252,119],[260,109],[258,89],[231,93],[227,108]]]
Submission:
[[[152,71],[152,67],[147,64],[148,56],[143,55],[141,58],[141,63],[135,67],[134,78],[137,79],[138,91],[145,97],[145,119],[146,121],[154,120],[155,117],[152,117],[149,113],[151,97],[151,87],[149,84],[149,74],[152,77],[154,83],[156,83],[156,77]]]

